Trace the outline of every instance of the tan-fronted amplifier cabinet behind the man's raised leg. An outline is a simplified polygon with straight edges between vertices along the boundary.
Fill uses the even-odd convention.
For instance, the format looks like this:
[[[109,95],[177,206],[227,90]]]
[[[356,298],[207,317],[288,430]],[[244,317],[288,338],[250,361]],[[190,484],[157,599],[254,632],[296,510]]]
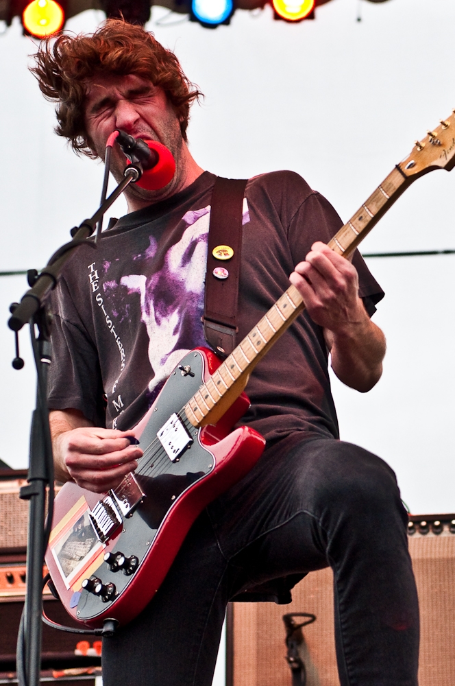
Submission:
[[[408,534],[421,615],[419,686],[454,686],[455,514],[413,515]],[[332,583],[332,570],[321,569],[297,584],[290,605],[230,604],[227,686],[291,686],[282,617],[302,612],[316,615],[299,646],[306,686],[339,686]]]

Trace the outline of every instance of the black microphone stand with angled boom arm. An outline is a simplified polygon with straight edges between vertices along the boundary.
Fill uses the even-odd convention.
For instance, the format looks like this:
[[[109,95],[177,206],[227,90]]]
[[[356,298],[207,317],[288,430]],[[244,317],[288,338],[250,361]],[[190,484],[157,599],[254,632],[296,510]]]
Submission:
[[[10,307],[12,316],[8,325],[16,333],[16,357],[13,366],[15,369],[23,367],[23,361],[19,357],[17,332],[24,324],[29,323],[37,372],[36,409],[32,414],[30,431],[28,484],[21,488],[19,495],[22,499],[29,500],[27,590],[16,653],[19,686],[39,686],[40,683],[42,567],[53,515],[53,459],[47,408],[47,370],[51,362],[51,343],[49,340],[50,321],[45,311],[45,303],[47,296],[56,286],[63,265],[69,259],[73,248],[82,244],[97,248],[95,241],[86,239],[93,234],[97,222],[101,220],[114,200],[131,182],[139,180],[141,175],[142,169],[138,165],[128,165],[124,171],[125,178],[95,214],[90,219],[84,220],[78,227],[71,229],[72,240],[53,254],[40,274],[36,270],[28,272],[31,288],[25,293],[21,303],[13,303]],[[49,487],[49,502],[45,524],[47,487]],[[112,635],[112,632],[112,622],[110,622],[110,625],[106,626],[106,635]]]

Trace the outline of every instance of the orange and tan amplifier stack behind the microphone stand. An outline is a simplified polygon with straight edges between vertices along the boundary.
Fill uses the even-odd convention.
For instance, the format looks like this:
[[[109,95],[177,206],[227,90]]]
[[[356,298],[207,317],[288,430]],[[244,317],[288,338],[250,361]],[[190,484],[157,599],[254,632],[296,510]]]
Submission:
[[[28,502],[19,499],[27,471],[0,469],[0,683],[16,680],[16,640],[25,598]],[[45,612],[59,624],[76,626],[62,604],[45,590]],[[95,686],[101,674],[101,641],[42,626],[42,674],[60,686]]]

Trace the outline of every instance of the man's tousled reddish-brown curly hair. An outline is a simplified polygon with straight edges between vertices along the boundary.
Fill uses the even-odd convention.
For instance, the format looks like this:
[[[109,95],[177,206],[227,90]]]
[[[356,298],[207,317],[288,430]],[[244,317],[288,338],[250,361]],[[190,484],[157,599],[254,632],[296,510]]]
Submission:
[[[56,133],[69,139],[75,152],[96,157],[88,137],[84,104],[88,80],[95,75],[134,74],[160,86],[180,119],[186,141],[190,104],[202,93],[184,75],[173,52],[153,34],[123,19],[108,19],[90,36],[47,38],[34,56],[30,71],[46,99],[58,101]]]

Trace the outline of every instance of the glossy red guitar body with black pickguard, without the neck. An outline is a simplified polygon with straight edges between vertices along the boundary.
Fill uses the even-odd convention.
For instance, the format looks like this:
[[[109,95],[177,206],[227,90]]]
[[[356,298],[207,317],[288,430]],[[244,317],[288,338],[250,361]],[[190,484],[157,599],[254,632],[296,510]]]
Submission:
[[[72,483],[58,493],[46,563],[66,610],[86,626],[102,627],[106,619],[123,625],[136,617],[160,587],[199,513],[260,458],[265,447],[260,434],[248,427],[232,431],[249,407],[245,394],[215,426],[197,429],[186,421],[193,442],[177,458],[170,458],[157,438],[173,413],[182,416],[182,407],[219,364],[206,348],[185,355],[180,362],[184,370],[172,372],[149,412],[132,429],[144,451],[133,484],[141,497],[106,540],[102,535],[100,540],[90,516],[103,495]],[[109,519],[112,507],[106,508]],[[116,568],[115,560],[105,561],[106,553],[134,565]],[[104,595],[94,593],[94,582],[103,584]]]

